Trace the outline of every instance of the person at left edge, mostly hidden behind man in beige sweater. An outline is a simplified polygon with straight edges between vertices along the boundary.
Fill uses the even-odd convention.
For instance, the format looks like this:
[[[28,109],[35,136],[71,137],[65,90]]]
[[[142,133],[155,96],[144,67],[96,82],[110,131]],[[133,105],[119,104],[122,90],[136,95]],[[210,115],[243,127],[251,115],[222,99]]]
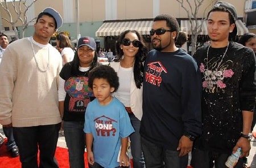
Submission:
[[[3,51],[7,48],[7,45],[9,45],[9,40],[7,35],[1,33],[0,34],[0,63],[3,55]],[[13,127],[9,126],[3,126],[3,132],[5,133],[5,136],[7,137],[7,150],[11,153],[12,157],[18,157],[19,156],[19,149],[15,143],[14,137],[13,137]]]

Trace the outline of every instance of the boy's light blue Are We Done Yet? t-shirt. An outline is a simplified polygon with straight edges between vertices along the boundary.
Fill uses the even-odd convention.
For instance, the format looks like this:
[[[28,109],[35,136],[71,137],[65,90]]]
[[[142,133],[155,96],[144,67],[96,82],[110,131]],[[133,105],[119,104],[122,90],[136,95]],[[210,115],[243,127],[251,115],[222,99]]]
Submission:
[[[93,135],[94,161],[103,167],[117,167],[121,137],[134,132],[125,106],[117,99],[106,106],[99,104],[97,99],[86,108],[84,132]]]

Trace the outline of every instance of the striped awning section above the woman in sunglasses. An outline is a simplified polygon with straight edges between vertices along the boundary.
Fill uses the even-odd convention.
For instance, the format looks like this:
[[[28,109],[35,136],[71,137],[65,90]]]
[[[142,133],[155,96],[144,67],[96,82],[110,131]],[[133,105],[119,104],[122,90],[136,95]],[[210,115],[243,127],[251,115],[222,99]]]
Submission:
[[[141,35],[149,35],[153,21],[108,21],[101,25],[96,31],[96,37],[119,36],[128,29],[136,30]]]

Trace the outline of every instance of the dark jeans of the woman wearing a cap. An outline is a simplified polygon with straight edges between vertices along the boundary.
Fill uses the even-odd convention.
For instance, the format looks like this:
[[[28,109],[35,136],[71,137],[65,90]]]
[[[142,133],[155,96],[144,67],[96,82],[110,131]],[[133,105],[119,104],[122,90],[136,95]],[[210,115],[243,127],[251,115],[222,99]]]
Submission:
[[[84,122],[63,122],[65,141],[68,147],[71,168],[84,168],[85,133]]]

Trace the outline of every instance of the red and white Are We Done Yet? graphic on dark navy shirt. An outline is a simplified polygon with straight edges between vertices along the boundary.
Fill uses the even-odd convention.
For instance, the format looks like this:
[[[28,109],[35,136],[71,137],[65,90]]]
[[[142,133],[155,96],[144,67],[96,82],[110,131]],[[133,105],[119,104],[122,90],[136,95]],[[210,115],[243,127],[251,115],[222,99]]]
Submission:
[[[158,85],[159,87],[160,83],[162,82],[161,74],[163,71],[167,74],[167,70],[161,62],[156,61],[156,62],[148,63],[145,80],[148,83]]]

